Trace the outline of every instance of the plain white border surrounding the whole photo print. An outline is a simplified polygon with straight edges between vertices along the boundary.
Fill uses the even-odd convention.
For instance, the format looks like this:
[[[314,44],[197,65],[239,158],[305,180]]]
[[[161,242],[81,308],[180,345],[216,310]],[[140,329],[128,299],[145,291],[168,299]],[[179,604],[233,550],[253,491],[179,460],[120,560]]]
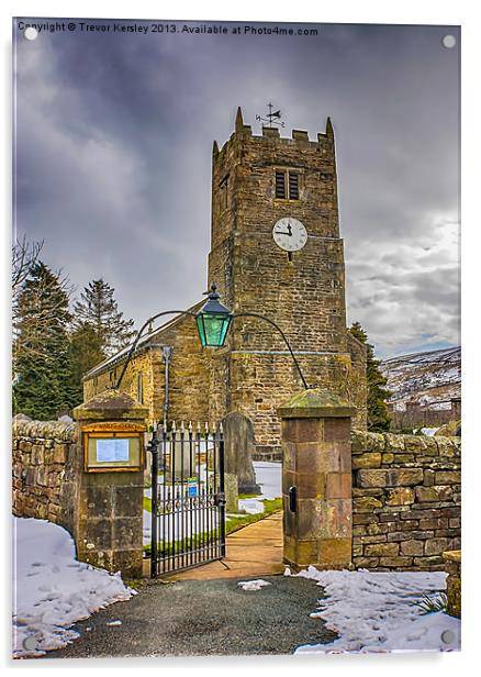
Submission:
[[[474,502],[474,497],[479,492],[479,450],[474,444],[478,431],[476,429],[477,414],[479,420],[478,404],[478,378],[480,376],[479,360],[481,348],[478,346],[480,332],[478,330],[478,318],[480,312],[480,292],[481,284],[479,275],[480,267],[480,199],[479,192],[479,163],[480,156],[479,143],[479,31],[480,22],[479,10],[476,8],[476,0],[457,0],[456,2],[446,0],[437,0],[436,2],[423,0],[403,0],[403,2],[392,3],[385,0],[337,0],[337,2],[315,3],[312,0],[297,0],[295,2],[261,3],[258,0],[245,0],[243,2],[213,2],[205,0],[203,2],[186,2],[177,1],[171,4],[155,2],[154,0],[142,0],[137,2],[109,2],[105,0],[85,0],[79,1],[33,1],[33,0],[4,0],[1,5],[2,21],[0,30],[2,33],[2,54],[5,56],[4,66],[0,70],[1,91],[3,93],[3,125],[2,125],[2,148],[5,149],[3,163],[1,164],[2,180],[0,186],[2,189],[2,204],[5,206],[3,212],[4,226],[3,243],[4,252],[2,256],[3,273],[2,276],[2,303],[3,310],[8,317],[10,307],[9,296],[9,269],[10,269],[10,230],[11,223],[11,156],[9,148],[11,146],[10,133],[10,106],[11,106],[11,16],[12,15],[31,15],[31,16],[88,16],[88,18],[134,18],[134,19],[190,19],[190,20],[253,20],[253,21],[301,21],[301,22],[331,22],[331,23],[399,23],[399,24],[446,24],[462,26],[462,348],[463,348],[463,433],[465,433],[465,465],[463,465],[463,650],[459,653],[444,654],[443,656],[427,655],[371,655],[371,656],[322,656],[322,657],[269,657],[269,658],[219,658],[219,659],[116,659],[116,661],[93,661],[83,662],[44,662],[40,661],[35,664],[29,662],[22,665],[16,662],[10,663],[10,666],[24,672],[32,668],[48,668],[48,669],[89,669],[102,670],[105,669],[132,669],[135,665],[146,669],[156,667],[157,669],[175,672],[176,674],[188,672],[192,674],[225,674],[227,670],[236,674],[246,674],[253,667],[261,669],[262,673],[276,672],[276,675],[288,675],[292,670],[295,673],[317,674],[320,670],[335,672],[337,674],[353,674],[356,670],[359,675],[382,674],[389,670],[390,676],[402,675],[405,677],[406,670],[412,670],[414,674],[421,672],[433,672],[443,674],[447,670],[454,670],[458,666],[469,670],[469,662],[476,661],[476,647],[479,628],[479,574],[478,567],[481,559],[479,554],[479,504]],[[275,10],[272,9],[275,8]],[[450,134],[451,130],[446,130],[446,134]],[[471,287],[471,288],[470,288]],[[443,319],[440,318],[441,322]],[[4,326],[4,322],[2,323]],[[8,411],[10,382],[9,382],[9,334],[3,330],[3,359],[2,359],[2,414],[3,430],[5,437],[10,428],[10,412]],[[477,408],[477,409],[474,409]],[[5,439],[4,437],[4,439]],[[9,486],[9,454],[8,444],[2,446],[2,465],[3,482],[2,489],[5,490],[4,500],[1,501],[2,514],[1,524],[9,524],[10,509],[10,486]],[[3,493],[2,493],[3,496]],[[3,553],[8,553],[10,548],[9,532],[5,533],[5,542],[2,548]],[[10,599],[10,563],[9,558],[4,557],[2,562],[2,582],[5,585],[5,590],[2,599]],[[466,592],[468,590],[468,592]],[[8,607],[8,604],[4,604]],[[476,620],[474,620],[476,613]],[[3,656],[10,654],[10,623],[5,619],[7,614],[2,614],[5,626],[2,628],[2,640],[5,641]],[[152,632],[152,629],[145,629],[146,632]],[[5,661],[5,659],[4,659]],[[3,661],[3,662],[4,662]],[[479,661],[478,661],[479,663]],[[470,672],[467,673],[468,675]]]

